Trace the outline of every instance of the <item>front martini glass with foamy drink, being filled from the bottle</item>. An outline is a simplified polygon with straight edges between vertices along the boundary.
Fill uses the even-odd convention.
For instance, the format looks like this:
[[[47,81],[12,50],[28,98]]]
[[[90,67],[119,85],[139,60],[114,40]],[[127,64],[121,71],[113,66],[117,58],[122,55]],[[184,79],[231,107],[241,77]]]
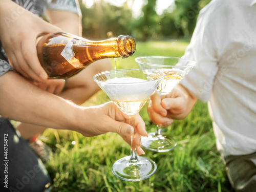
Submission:
[[[164,77],[157,70],[124,69],[99,73],[93,77],[98,86],[110,97],[118,108],[129,116],[134,126],[134,115],[139,113],[148,98],[155,92]],[[137,156],[131,137],[131,156],[117,160],[112,173],[125,181],[140,181],[152,176],[156,163],[146,157]]]

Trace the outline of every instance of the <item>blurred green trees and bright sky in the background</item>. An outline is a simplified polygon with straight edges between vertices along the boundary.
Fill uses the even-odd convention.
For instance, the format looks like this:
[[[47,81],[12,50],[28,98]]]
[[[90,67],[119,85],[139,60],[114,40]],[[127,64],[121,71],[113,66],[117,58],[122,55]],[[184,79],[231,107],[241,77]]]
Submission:
[[[121,34],[137,41],[187,38],[210,0],[79,0],[83,36],[100,40]],[[159,10],[158,5],[166,5]]]

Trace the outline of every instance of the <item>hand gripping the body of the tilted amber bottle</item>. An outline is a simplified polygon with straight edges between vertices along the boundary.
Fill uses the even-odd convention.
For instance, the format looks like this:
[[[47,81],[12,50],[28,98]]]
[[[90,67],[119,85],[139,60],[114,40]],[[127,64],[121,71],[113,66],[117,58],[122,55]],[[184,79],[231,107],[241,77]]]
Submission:
[[[36,38],[59,31],[60,28],[10,0],[0,2],[0,39],[3,48],[12,67],[27,79],[43,82],[48,78],[37,57]]]

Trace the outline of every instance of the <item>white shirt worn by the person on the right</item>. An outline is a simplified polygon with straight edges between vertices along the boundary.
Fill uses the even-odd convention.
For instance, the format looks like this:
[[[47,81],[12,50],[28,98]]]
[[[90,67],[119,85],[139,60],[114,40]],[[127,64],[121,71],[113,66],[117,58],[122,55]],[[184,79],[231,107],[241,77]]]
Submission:
[[[256,152],[256,1],[212,0],[199,14],[181,84],[208,101],[218,150]]]

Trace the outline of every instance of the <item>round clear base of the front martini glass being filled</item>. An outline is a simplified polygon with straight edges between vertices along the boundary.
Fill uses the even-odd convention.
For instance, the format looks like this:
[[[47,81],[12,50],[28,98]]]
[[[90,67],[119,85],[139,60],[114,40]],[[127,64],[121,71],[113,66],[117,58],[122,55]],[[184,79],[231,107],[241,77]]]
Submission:
[[[112,173],[119,179],[125,181],[140,181],[152,176],[156,170],[156,163],[146,157],[131,160],[131,156],[117,160],[112,166]]]

